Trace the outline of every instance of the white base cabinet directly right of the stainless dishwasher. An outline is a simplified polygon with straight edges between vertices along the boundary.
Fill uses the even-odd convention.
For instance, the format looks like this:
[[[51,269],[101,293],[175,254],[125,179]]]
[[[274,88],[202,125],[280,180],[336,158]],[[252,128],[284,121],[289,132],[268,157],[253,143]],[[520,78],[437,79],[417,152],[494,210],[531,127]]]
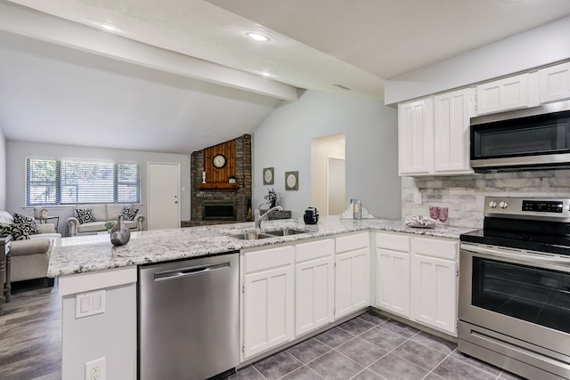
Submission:
[[[240,257],[244,360],[294,338],[294,254],[288,246]]]

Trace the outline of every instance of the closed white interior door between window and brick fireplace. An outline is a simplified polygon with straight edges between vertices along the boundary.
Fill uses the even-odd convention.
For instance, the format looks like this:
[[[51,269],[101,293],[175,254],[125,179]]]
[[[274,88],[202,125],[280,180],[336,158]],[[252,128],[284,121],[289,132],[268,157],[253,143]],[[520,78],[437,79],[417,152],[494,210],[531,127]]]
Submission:
[[[149,230],[180,227],[180,164],[149,163]]]

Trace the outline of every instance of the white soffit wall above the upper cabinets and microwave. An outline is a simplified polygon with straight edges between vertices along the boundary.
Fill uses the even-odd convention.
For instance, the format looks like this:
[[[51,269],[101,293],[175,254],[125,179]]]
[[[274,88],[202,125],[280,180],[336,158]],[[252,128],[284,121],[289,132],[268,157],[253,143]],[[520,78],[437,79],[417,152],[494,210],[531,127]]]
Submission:
[[[395,104],[567,60],[569,36],[570,16],[389,78],[384,87],[385,103]]]

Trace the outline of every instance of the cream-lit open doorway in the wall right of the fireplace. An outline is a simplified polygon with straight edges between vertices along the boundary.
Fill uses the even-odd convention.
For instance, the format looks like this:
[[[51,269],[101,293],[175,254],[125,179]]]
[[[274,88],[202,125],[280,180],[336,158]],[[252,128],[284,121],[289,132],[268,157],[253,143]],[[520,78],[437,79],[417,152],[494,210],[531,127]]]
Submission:
[[[320,214],[342,214],[346,202],[345,133],[311,141],[311,205]]]

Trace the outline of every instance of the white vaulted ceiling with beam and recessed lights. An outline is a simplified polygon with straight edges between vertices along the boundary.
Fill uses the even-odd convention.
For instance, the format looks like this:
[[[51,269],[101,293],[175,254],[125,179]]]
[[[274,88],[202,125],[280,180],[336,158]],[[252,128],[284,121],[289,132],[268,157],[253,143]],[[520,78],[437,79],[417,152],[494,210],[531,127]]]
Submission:
[[[0,0],[0,127],[190,153],[298,89],[382,101],[389,77],[568,15],[567,0]]]

